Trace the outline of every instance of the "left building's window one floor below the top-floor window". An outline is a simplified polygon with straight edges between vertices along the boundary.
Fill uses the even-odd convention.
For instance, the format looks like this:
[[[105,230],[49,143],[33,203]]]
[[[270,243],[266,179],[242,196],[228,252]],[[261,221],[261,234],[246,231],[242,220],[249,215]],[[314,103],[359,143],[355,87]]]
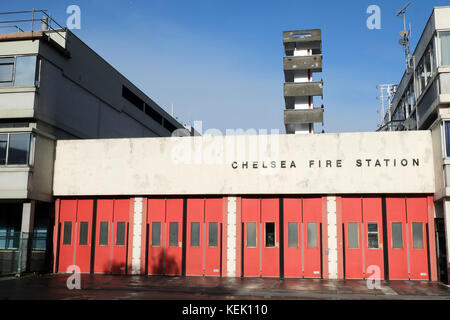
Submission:
[[[0,165],[28,165],[32,135],[0,134]]]

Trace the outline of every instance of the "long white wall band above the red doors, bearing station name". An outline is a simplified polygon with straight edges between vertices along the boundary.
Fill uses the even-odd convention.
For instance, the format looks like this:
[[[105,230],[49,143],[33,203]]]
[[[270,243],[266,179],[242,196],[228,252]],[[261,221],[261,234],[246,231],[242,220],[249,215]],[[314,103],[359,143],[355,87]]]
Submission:
[[[372,165],[358,167],[358,159]],[[374,167],[376,159],[381,166]],[[408,165],[401,166],[401,159]],[[232,168],[234,161],[240,168]],[[269,167],[275,161],[277,168],[261,168],[262,161]],[[287,168],[280,168],[281,161]],[[289,168],[291,161],[296,168]],[[434,193],[434,183],[429,131],[203,136],[58,141],[54,194]]]

